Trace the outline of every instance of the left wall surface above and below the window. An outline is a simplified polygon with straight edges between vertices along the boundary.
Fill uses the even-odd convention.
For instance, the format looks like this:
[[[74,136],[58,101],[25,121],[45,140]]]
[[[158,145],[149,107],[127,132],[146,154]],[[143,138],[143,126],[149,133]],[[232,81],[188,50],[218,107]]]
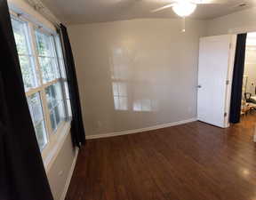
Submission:
[[[28,5],[23,0],[8,0],[9,7],[18,8],[23,12],[28,13],[33,16],[37,21],[44,24],[45,27],[55,30],[55,27],[48,20],[45,20],[44,17],[36,12],[31,6]],[[58,154],[53,156],[54,158],[50,161],[51,166],[47,169],[47,177],[50,182],[52,189],[52,195],[54,200],[62,200],[63,194],[68,188],[68,180],[71,177],[70,172],[74,168],[76,162],[77,152],[73,148],[71,143],[70,132],[67,136],[62,137],[64,141],[60,142],[63,144],[58,151]]]

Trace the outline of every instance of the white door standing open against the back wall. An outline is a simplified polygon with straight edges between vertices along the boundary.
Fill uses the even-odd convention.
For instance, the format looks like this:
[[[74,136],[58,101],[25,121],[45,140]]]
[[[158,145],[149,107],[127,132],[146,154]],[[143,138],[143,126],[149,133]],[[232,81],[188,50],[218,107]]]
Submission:
[[[232,35],[200,38],[197,86],[199,121],[228,127],[235,45],[236,36]]]

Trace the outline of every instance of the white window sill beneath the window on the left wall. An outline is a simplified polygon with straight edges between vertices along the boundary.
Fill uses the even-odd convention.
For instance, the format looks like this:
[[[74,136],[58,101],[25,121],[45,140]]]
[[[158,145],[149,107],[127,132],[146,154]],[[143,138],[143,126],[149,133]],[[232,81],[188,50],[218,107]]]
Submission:
[[[70,128],[71,128],[71,120],[63,124],[60,130],[58,130],[58,132],[61,132],[60,137],[58,138],[58,140],[56,140],[54,147],[50,150],[47,156],[43,158],[44,169],[46,173],[49,172],[56,157],[59,155],[60,149],[63,147],[63,144],[68,136],[68,133],[70,132]]]

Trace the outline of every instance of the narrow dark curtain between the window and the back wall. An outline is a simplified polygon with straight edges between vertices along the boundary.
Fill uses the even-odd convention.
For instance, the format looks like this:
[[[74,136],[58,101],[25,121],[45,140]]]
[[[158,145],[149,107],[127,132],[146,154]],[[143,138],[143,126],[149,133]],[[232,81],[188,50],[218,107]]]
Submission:
[[[80,97],[78,91],[78,84],[76,79],[76,68],[71,45],[68,38],[67,28],[60,24],[60,39],[63,48],[63,55],[65,60],[66,74],[68,80],[68,90],[70,96],[70,104],[72,109],[72,123],[71,136],[73,144],[76,147],[81,147],[85,143],[85,132],[83,117],[81,111]]]

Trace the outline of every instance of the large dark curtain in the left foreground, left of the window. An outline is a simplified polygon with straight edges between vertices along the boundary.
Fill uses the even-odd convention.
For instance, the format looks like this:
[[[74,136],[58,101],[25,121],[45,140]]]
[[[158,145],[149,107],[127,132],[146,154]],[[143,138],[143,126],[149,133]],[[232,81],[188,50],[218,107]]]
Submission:
[[[28,110],[6,0],[0,0],[0,200],[53,200]]]

